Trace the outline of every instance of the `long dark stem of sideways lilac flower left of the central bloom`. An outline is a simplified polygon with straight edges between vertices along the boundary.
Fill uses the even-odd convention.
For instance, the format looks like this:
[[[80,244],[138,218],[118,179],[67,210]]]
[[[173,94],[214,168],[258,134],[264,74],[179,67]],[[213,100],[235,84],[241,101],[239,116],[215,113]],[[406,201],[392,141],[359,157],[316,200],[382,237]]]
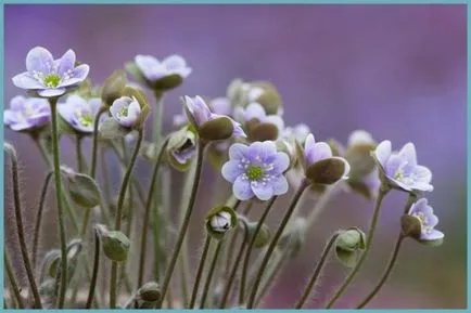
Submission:
[[[167,289],[168,289],[169,284],[170,284],[171,276],[174,275],[175,265],[177,264],[178,256],[180,253],[181,246],[183,244],[184,235],[187,234],[188,226],[190,224],[191,214],[193,212],[194,203],[196,200],[198,187],[200,185],[201,171],[203,168],[204,147],[205,147],[204,142],[200,141],[200,144],[198,146],[196,169],[195,169],[195,174],[194,174],[193,186],[191,188],[190,200],[188,203],[188,208],[187,208],[187,211],[186,211],[186,214],[183,218],[183,223],[181,224],[180,232],[179,232],[178,238],[177,238],[177,243],[176,243],[176,246],[174,248],[174,252],[171,255],[170,262],[168,264],[168,269],[165,272],[164,283],[162,285],[162,295],[161,295],[162,299],[161,299],[160,303],[157,303],[157,309],[162,308],[163,301],[165,299],[165,296],[167,294]]]

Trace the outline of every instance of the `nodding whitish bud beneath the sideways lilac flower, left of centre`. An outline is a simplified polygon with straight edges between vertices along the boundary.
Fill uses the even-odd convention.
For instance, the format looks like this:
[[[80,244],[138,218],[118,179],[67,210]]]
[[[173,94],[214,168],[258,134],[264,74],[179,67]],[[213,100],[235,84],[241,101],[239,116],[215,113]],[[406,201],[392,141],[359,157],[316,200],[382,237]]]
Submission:
[[[188,127],[174,132],[166,147],[167,160],[173,168],[187,171],[196,151],[196,135]]]

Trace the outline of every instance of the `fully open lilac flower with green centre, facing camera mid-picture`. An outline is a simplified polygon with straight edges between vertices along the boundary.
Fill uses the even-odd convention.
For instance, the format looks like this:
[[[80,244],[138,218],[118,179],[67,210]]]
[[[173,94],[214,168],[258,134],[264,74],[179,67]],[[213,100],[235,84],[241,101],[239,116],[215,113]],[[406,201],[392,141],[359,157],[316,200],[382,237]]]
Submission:
[[[229,160],[222,166],[222,177],[232,183],[232,192],[240,200],[256,196],[268,200],[288,192],[283,172],[290,166],[285,153],[277,152],[271,141],[254,142],[250,146],[234,143],[229,148]]]

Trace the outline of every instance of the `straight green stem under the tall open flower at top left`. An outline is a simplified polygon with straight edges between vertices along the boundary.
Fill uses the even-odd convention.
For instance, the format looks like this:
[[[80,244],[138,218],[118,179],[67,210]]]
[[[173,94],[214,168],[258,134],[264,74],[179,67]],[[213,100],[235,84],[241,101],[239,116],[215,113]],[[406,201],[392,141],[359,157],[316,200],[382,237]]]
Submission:
[[[52,159],[54,165],[55,199],[58,206],[59,233],[61,238],[61,289],[59,291],[58,308],[64,307],[65,291],[67,288],[67,237],[65,234],[65,221],[62,200],[61,156],[59,147],[58,130],[58,99],[49,100],[52,116]]]

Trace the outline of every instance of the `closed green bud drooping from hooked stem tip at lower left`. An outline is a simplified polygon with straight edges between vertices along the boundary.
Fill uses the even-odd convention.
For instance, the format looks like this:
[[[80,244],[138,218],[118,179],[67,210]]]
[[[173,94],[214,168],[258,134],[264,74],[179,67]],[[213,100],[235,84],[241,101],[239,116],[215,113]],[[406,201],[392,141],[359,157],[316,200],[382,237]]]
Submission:
[[[105,225],[96,225],[101,237],[104,255],[112,261],[123,262],[127,259],[130,242],[125,234],[118,231],[109,231]]]

